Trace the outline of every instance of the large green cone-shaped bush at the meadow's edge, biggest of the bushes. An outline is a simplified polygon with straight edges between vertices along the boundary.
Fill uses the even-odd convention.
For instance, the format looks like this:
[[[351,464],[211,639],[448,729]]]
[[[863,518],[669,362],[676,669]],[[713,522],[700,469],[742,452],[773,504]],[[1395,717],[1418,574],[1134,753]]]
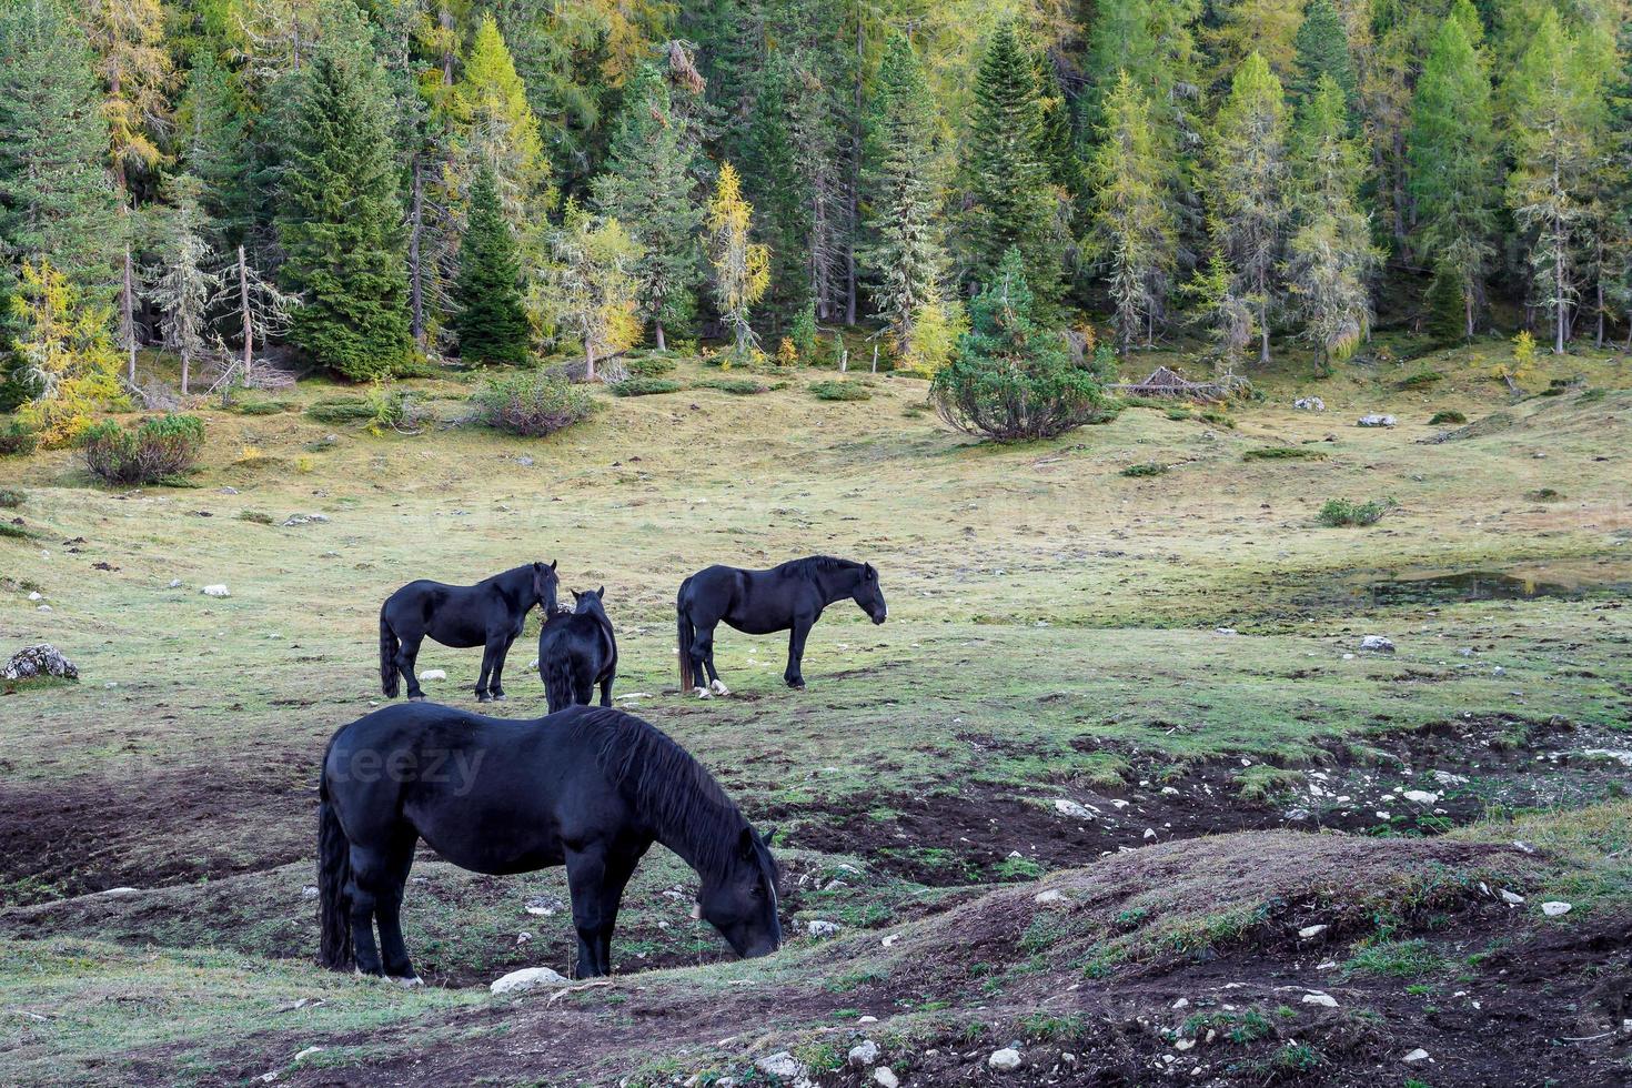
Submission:
[[[969,331],[929,391],[960,431],[997,442],[1049,439],[1100,411],[1111,362],[1102,346],[1077,364],[1064,336],[1036,328],[1020,253],[1010,250],[996,282],[969,303]]]

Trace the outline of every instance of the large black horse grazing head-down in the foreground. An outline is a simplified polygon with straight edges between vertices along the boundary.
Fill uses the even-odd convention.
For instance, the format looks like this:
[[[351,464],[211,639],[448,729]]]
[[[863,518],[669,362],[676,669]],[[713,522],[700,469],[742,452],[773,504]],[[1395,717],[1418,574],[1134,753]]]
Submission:
[[[772,835],[685,749],[620,710],[504,721],[385,706],[341,728],[323,755],[322,961],[415,980],[398,918],[419,838],[477,873],[565,863],[579,979],[612,969],[623,886],[653,842],[697,869],[698,913],[736,954],[764,956],[782,944]]]

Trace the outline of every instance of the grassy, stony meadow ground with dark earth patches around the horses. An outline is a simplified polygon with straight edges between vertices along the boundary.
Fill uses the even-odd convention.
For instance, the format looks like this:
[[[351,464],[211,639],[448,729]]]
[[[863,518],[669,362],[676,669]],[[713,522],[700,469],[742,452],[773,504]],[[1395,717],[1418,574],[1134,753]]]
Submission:
[[[1513,398],[1505,352],[1283,365],[1010,449],[914,378],[733,395],[682,360],[692,388],[548,440],[449,426],[450,375],[405,383],[418,436],[315,421],[361,396],[323,382],[209,406],[189,488],[3,462],[0,649],[82,680],[0,695],[0,1081],[746,1085],[787,1052],[821,1085],[1625,1083],[1632,359],[1544,356]],[[1395,507],[1330,529],[1327,499]],[[682,698],[679,581],[818,551],[876,564],[889,621],[831,608],[805,692],[783,639],[725,631],[733,695]],[[609,984],[490,997],[566,971],[563,874],[431,855],[431,985],[313,966],[317,763],[382,701],[380,600],[530,559],[605,584],[619,703],[783,829],[780,954],[731,961],[656,848]],[[509,716],[543,713],[535,633]],[[462,706],[478,666],[419,657]]]

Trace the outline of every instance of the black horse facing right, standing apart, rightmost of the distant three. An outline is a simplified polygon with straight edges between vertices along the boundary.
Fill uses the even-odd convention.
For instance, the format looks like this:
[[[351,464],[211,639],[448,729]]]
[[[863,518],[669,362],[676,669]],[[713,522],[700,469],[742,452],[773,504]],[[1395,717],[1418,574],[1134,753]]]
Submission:
[[[697,571],[681,582],[681,595],[674,602],[679,613],[681,692],[692,690],[703,698],[731,693],[713,666],[713,630],[721,620],[746,635],[792,631],[788,670],[782,679],[792,688],[805,687],[800,672],[805,638],[821,618],[821,610],[845,597],[860,605],[873,623],[885,621],[888,608],[871,563],[813,555],[769,571],[734,566]]]

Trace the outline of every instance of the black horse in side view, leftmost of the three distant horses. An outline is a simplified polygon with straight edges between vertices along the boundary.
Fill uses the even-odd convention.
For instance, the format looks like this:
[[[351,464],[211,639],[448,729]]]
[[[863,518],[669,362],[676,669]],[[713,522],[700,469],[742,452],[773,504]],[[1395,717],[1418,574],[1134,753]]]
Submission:
[[[555,563],[529,563],[475,586],[444,586],[419,579],[408,582],[380,605],[380,690],[397,698],[397,675],[408,680],[408,698],[424,700],[415,659],[419,641],[429,635],[444,646],[481,646],[481,677],[477,698],[483,703],[504,698],[504,656],[521,635],[534,605],[543,615],[555,612]],[[488,675],[493,685],[488,687]]]

